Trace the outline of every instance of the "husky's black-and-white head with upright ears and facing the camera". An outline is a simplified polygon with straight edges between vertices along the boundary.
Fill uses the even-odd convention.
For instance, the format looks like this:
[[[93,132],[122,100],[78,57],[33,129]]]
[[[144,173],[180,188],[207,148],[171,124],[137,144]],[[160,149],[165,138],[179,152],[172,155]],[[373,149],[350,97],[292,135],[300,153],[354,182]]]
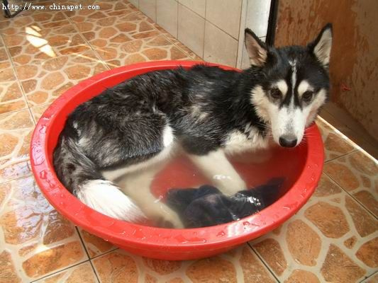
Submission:
[[[250,101],[257,115],[271,128],[274,141],[298,145],[328,98],[328,63],[332,25],[326,25],[306,47],[267,47],[255,33],[245,30],[245,47],[255,86]],[[247,71],[248,73],[248,71]],[[259,79],[254,79],[260,74]]]

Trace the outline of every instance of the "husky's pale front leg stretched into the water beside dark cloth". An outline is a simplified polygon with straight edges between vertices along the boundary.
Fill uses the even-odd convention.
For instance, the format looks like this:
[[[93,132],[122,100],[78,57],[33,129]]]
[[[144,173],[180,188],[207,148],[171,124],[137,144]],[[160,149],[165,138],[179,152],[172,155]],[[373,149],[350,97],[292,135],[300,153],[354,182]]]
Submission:
[[[244,180],[235,171],[222,149],[210,151],[206,155],[188,155],[205,177],[211,180],[224,195],[234,195],[240,190],[247,188]]]

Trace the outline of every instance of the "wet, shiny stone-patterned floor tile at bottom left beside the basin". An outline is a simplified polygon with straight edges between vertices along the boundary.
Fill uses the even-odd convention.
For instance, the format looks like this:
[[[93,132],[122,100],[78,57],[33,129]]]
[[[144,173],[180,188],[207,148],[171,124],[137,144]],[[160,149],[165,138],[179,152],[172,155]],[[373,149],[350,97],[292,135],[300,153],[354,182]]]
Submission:
[[[1,254],[10,266],[7,274],[28,282],[88,259],[74,225],[51,207],[32,176],[0,190],[0,246],[12,258]]]

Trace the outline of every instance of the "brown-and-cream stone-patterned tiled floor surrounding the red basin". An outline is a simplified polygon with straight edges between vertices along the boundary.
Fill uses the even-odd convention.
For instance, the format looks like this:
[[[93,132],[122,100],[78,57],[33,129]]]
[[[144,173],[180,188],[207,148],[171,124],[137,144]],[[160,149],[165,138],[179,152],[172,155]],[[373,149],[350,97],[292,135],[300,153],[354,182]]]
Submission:
[[[96,4],[100,11],[0,18],[0,282],[377,282],[377,161],[323,120],[326,164],[316,193],[279,229],[229,253],[140,258],[57,214],[29,166],[43,110],[106,69],[199,59],[126,1]]]

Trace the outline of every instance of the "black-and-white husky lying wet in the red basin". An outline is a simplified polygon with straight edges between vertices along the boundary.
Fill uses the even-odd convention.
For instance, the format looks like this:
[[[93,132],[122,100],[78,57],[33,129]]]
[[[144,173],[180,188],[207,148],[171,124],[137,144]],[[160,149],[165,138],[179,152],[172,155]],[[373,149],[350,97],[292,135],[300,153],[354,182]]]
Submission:
[[[159,164],[180,150],[224,195],[245,190],[227,156],[301,143],[328,98],[332,38],[328,24],[306,46],[275,48],[246,29],[249,69],[198,64],[106,89],[67,117],[53,156],[57,177],[103,214],[182,227],[150,192]]]

